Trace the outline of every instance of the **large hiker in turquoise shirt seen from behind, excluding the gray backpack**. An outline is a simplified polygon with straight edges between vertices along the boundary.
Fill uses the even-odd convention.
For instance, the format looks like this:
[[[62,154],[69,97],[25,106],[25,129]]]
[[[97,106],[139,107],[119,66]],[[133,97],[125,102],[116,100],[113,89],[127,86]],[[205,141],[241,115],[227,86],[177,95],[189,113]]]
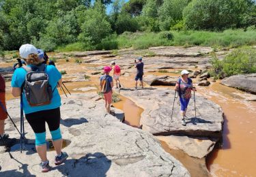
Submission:
[[[41,106],[31,104],[31,100],[27,100],[27,95],[25,95],[25,90],[23,90],[22,87],[24,85],[23,83],[25,83],[27,74],[30,74],[27,69],[33,71],[38,69],[37,65],[40,64],[38,50],[31,44],[25,44],[20,47],[19,52],[20,57],[26,61],[27,67],[19,67],[14,71],[11,83],[12,95],[14,95],[14,97],[19,97],[21,94],[23,97],[23,110],[29,125],[35,133],[35,148],[41,159],[40,167],[42,168],[42,172],[48,172],[50,170],[50,165],[46,157],[45,123],[48,124],[53,139],[53,146],[57,152],[57,155],[55,156],[55,165],[63,163],[63,161],[68,158],[66,152],[61,152],[62,137],[59,128],[61,118],[59,110],[59,107],[61,106],[61,97],[56,88],[57,83],[59,83],[59,86],[62,84],[61,74],[53,65],[41,65],[41,67],[44,67],[44,73],[48,75],[48,84],[51,86],[51,101],[44,103]],[[42,98],[44,99],[44,97]]]

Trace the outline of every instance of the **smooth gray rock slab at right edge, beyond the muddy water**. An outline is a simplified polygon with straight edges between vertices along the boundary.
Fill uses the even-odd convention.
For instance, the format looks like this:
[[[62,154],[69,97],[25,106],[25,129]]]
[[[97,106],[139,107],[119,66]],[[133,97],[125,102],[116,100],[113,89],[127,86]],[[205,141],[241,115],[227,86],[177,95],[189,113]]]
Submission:
[[[256,94],[256,74],[230,76],[221,80],[221,84]]]

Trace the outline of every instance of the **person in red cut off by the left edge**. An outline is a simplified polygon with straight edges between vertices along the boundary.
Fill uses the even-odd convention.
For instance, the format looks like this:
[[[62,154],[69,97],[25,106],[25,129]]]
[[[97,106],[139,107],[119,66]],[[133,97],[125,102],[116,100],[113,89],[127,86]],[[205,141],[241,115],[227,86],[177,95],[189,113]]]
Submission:
[[[5,126],[5,119],[7,118],[6,104],[5,104],[5,79],[0,74],[0,135],[3,139],[7,139],[9,137],[8,134],[5,134],[4,126]],[[2,106],[5,108],[3,110]]]

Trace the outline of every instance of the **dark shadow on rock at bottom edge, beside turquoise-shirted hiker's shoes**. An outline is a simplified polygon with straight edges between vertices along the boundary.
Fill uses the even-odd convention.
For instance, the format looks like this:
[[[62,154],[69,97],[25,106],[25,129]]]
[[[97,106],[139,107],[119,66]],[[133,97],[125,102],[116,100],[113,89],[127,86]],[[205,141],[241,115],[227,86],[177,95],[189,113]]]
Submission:
[[[63,165],[51,168],[58,170],[63,176],[104,177],[111,167],[111,160],[101,152],[87,154],[80,159],[67,159]]]

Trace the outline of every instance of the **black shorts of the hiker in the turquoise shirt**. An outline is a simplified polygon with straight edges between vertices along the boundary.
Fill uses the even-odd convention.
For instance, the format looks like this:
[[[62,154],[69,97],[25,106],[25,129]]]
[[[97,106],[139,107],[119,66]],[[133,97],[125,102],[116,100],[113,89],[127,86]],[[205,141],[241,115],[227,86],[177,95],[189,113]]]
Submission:
[[[50,131],[59,129],[61,120],[61,112],[59,108],[32,112],[25,114],[25,116],[34,133],[44,133],[46,131],[45,123],[48,124]]]

